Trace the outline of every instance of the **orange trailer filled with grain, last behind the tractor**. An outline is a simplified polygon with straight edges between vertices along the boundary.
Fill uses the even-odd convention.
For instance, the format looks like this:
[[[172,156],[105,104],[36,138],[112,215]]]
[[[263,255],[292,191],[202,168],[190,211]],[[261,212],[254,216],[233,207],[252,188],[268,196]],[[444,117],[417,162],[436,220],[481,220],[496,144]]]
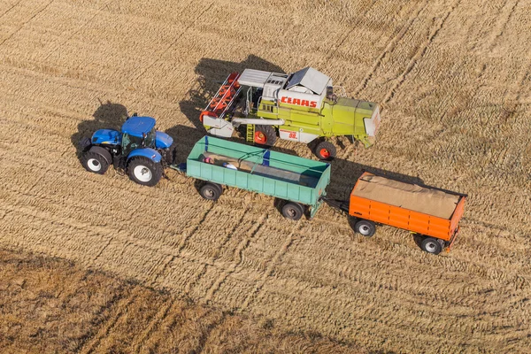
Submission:
[[[374,235],[376,223],[399,227],[422,235],[421,249],[439,254],[456,240],[465,200],[465,194],[363,173],[350,193],[348,212],[361,235]]]

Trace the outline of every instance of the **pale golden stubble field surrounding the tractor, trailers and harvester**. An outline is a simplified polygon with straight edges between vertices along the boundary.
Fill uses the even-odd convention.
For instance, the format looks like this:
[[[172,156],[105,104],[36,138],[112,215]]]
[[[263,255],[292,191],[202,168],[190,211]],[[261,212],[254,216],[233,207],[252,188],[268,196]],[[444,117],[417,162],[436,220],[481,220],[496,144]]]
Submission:
[[[530,10],[518,0],[0,0],[0,246],[352,350],[531,352]],[[370,149],[335,139],[344,149],[329,195],[367,166],[467,193],[450,253],[422,252],[392,227],[363,239],[327,206],[291,222],[270,197],[228,189],[214,204],[174,171],[145,188],[78,160],[83,136],[132,112],[155,117],[184,159],[228,73],[308,65],[383,108]],[[277,149],[312,158],[304,144]],[[63,349],[119,345],[106,328],[141,305],[124,291],[119,310],[101,309],[112,299],[84,310],[114,312],[83,329],[97,335],[81,348]],[[158,340],[150,328],[170,323],[169,305],[150,307],[154,320],[127,348]]]

